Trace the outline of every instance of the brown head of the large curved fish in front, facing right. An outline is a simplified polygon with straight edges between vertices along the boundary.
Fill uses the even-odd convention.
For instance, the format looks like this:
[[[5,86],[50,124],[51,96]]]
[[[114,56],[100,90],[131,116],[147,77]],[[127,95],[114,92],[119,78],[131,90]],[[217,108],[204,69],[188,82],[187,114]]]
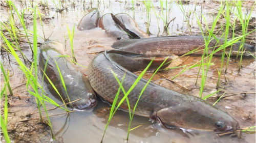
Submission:
[[[184,102],[157,111],[163,125],[204,131],[236,131],[239,124],[228,113],[204,101]]]

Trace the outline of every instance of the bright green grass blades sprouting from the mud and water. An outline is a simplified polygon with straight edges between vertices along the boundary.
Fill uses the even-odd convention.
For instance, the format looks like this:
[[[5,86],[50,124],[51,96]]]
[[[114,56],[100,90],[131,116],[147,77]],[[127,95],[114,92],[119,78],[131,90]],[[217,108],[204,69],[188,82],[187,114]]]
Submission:
[[[75,5],[76,5],[76,2],[68,2],[68,1],[52,1],[52,2],[54,3],[54,5],[56,7],[56,13],[65,11],[66,9],[68,9],[67,8],[68,5],[71,6],[71,9],[72,8],[75,9]],[[40,70],[42,72],[45,72],[46,68],[47,68],[47,67],[45,67],[44,69],[40,69],[37,66],[37,64],[38,64],[37,62],[38,62],[38,51],[39,51],[38,47],[41,44],[40,42],[38,42],[38,41],[40,41],[38,39],[41,38],[44,41],[49,40],[49,38],[46,38],[46,34],[45,34],[45,31],[46,31],[45,24],[47,22],[44,21],[44,18],[45,18],[44,16],[47,15],[46,14],[47,9],[49,11],[48,3],[49,3],[48,1],[40,1],[40,2],[1,1],[1,5],[6,6],[5,9],[8,9],[7,20],[1,21],[1,40],[2,40],[1,41],[2,42],[1,43],[1,52],[2,52],[2,54],[7,54],[8,57],[12,56],[15,60],[12,62],[16,63],[18,65],[18,69],[23,72],[24,76],[26,77],[26,90],[30,95],[35,97],[35,102],[36,102],[37,109],[39,112],[40,122],[47,123],[47,125],[50,127],[50,130],[51,130],[52,139],[55,139],[55,136],[54,136],[55,133],[54,133],[53,125],[52,125],[52,122],[51,122],[51,119],[49,116],[49,110],[47,108],[46,102],[50,103],[53,106],[63,109],[67,113],[70,112],[70,110],[66,106],[67,104],[65,104],[63,99],[62,99],[62,102],[63,102],[63,105],[66,106],[65,108],[61,107],[57,102],[55,102],[53,99],[51,99],[47,95],[47,91],[45,91],[45,89],[44,89],[44,82],[43,82],[44,78],[47,78],[49,80],[52,87],[54,88],[54,90],[57,93],[58,93],[58,91],[55,88],[55,85],[51,82],[50,78],[46,74],[44,76],[42,76],[42,82],[38,81],[38,72]],[[94,1],[91,3],[97,3],[98,6],[106,5],[103,1],[98,1],[98,2]],[[131,3],[133,18],[137,20],[138,19],[138,18],[136,18],[137,1],[131,1],[131,2],[127,2],[127,3],[129,3],[129,4]],[[255,11],[254,10],[255,3],[253,3],[253,6],[249,9],[249,11],[247,13],[244,13],[243,5],[242,5],[241,1],[218,2],[218,3],[220,3],[220,7],[217,9],[217,11],[218,11],[217,14],[212,16],[211,22],[209,22],[209,20],[206,18],[206,15],[204,15],[204,13],[202,13],[202,12],[196,13],[195,10],[193,11],[191,9],[187,10],[188,9],[188,7],[186,7],[187,4],[184,4],[184,2],[182,2],[182,1],[177,1],[177,2],[159,1],[158,4],[155,4],[155,3],[153,4],[152,1],[142,1],[139,3],[140,3],[140,5],[144,5],[144,7],[145,7],[144,19],[146,19],[146,20],[144,22],[145,22],[145,26],[146,26],[146,28],[145,28],[146,33],[155,34],[155,35],[172,35],[173,28],[170,26],[170,24],[172,24],[172,22],[174,22],[176,17],[171,18],[171,15],[172,15],[171,11],[172,11],[172,8],[174,7],[174,5],[178,5],[179,9],[181,10],[181,12],[183,14],[184,20],[186,21],[186,22],[184,22],[184,23],[186,23],[186,26],[182,25],[182,27],[186,28],[184,34],[185,35],[197,34],[197,35],[204,36],[205,45],[204,45],[203,54],[201,55],[201,60],[199,60],[195,63],[188,64],[188,65],[166,68],[164,70],[166,71],[166,70],[172,70],[172,69],[176,69],[176,68],[183,68],[182,70],[180,70],[180,73],[178,73],[176,76],[173,76],[171,78],[171,80],[174,80],[175,78],[182,75],[182,73],[189,71],[190,69],[197,68],[198,74],[197,74],[197,80],[195,82],[195,85],[199,84],[199,82],[201,81],[200,85],[199,85],[199,89],[200,89],[199,97],[206,100],[207,98],[211,97],[212,95],[218,94],[219,95],[218,99],[215,101],[215,103],[213,105],[217,104],[222,99],[222,97],[225,95],[225,91],[223,90],[223,88],[221,86],[221,78],[223,76],[225,76],[225,74],[227,73],[230,58],[231,58],[231,50],[229,53],[227,53],[226,47],[233,45],[234,43],[239,42],[239,41],[242,43],[239,47],[238,54],[235,57],[235,59],[239,62],[238,70],[241,70],[242,62],[243,62],[243,58],[244,58],[243,45],[245,42],[248,42],[248,39],[246,39],[246,37],[250,34],[255,33],[255,23],[253,23],[254,29],[249,27],[251,15]],[[17,5],[20,5],[21,7],[17,7]],[[44,11],[42,11],[39,8],[39,6],[42,7],[42,9],[44,9]],[[83,7],[84,7],[84,3],[83,3]],[[196,9],[196,6],[194,9]],[[201,9],[202,9],[202,5],[201,5]],[[152,11],[153,11],[154,15],[156,16],[157,21],[152,20],[153,19]],[[231,14],[233,14],[235,16],[235,18],[231,19],[230,18]],[[32,15],[33,18],[29,19],[28,15]],[[198,25],[198,31],[199,31],[198,33],[195,33],[193,31],[194,27],[191,26],[192,20],[193,20],[191,18],[191,15],[194,15],[196,17],[196,23]],[[220,23],[220,21],[223,19],[224,19],[224,22],[222,21],[222,23]],[[33,25],[32,27],[29,26],[29,24],[28,24],[29,22],[32,22],[32,25]],[[41,26],[43,35],[38,35],[37,22],[40,22],[40,26]],[[70,22],[72,22],[72,24],[74,23],[73,21],[70,21]],[[157,25],[158,25],[158,28],[154,27],[155,29],[158,29],[158,32],[157,32],[158,34],[156,34],[155,31],[151,31],[151,28],[153,25],[152,23],[154,23],[154,22],[157,23]],[[161,25],[161,23],[162,23],[162,25]],[[238,24],[241,26],[241,33],[239,35],[236,33]],[[181,26],[181,25],[177,26],[177,30],[180,28],[179,26]],[[163,29],[161,30],[160,28],[163,28]],[[75,52],[74,52],[75,48],[73,47],[75,24],[73,25],[72,31],[70,30],[69,26],[67,25],[67,30],[68,30],[68,38],[70,40],[70,48],[71,48],[71,52],[72,52],[71,53],[72,61],[77,64],[77,60],[76,60]],[[182,30],[182,28],[181,28],[181,30]],[[161,31],[161,33],[160,33],[160,31]],[[224,43],[220,46],[208,47],[211,40],[217,39],[217,38],[223,38]],[[66,41],[66,36],[63,36],[63,39],[65,39],[65,41]],[[254,42],[253,40],[254,39],[252,39],[251,41]],[[28,46],[24,46],[24,43],[25,43],[25,45],[28,45]],[[252,44],[255,44],[255,43],[252,43]],[[26,47],[29,47],[29,49],[30,49],[29,54],[28,54],[28,52],[26,52],[26,53],[24,52],[24,50],[28,49]],[[210,50],[211,50],[211,52],[209,53]],[[222,54],[221,54],[221,65],[218,69],[218,78],[217,78],[217,82],[216,82],[217,90],[214,93],[210,93],[208,95],[203,95],[203,93],[205,91],[205,83],[207,82],[207,79],[209,78],[208,71],[209,71],[210,67],[215,64],[212,61],[213,55],[219,51],[222,51]],[[190,51],[189,53],[193,53],[193,52],[197,52],[197,50]],[[181,57],[187,56],[189,53],[186,53],[186,54],[182,55]],[[8,58],[8,60],[10,61],[10,58]],[[167,59],[165,59],[165,61],[166,60]],[[3,59],[2,59],[2,61],[3,61]],[[155,70],[153,75],[148,80],[147,84],[149,82],[151,82],[151,80],[156,75],[156,73],[159,71],[159,69],[162,67],[162,65],[165,64],[165,61],[160,65],[160,67],[158,69]],[[67,94],[65,81],[63,80],[62,75],[61,75],[61,69],[59,69],[56,61],[55,61],[55,63],[58,68],[59,75],[61,77],[61,84]],[[141,78],[143,78],[147,69],[151,66],[151,63],[142,71],[142,73],[138,76],[137,80],[134,82],[132,87],[127,91],[125,91],[124,88],[122,87],[123,81],[119,81],[119,79],[117,78],[117,75],[113,72],[113,76],[116,77],[117,82],[119,84],[119,89],[118,89],[118,92],[117,92],[115,99],[112,103],[109,119],[105,125],[101,142],[103,142],[103,138],[106,133],[106,129],[108,128],[112,118],[114,117],[116,111],[121,106],[121,104],[124,100],[126,101],[126,103],[129,106],[130,122],[127,127],[127,135],[126,135],[126,140],[129,140],[130,132],[134,129],[134,128],[132,128],[132,121],[134,118],[136,106],[139,103],[140,97],[143,96],[143,91],[145,90],[147,84],[145,85],[143,90],[140,92],[139,99],[137,100],[134,108],[130,107],[129,94],[131,93],[133,88],[136,86],[136,84],[139,82],[139,80]],[[46,64],[46,66],[47,66],[47,64]],[[2,101],[1,103],[4,104],[3,105],[4,112],[2,112],[2,114],[1,114],[1,130],[4,134],[5,141],[11,142],[10,137],[8,135],[8,130],[7,130],[7,126],[8,126],[7,119],[8,119],[8,97],[13,96],[13,90],[12,90],[13,87],[12,87],[12,84],[10,84],[9,69],[7,67],[5,67],[4,62],[1,62],[1,71],[2,71],[2,75],[4,77],[4,80],[1,80],[1,83],[2,83],[1,84],[1,101]],[[124,74],[124,77],[125,77],[125,74]],[[123,79],[124,79],[124,77],[123,77]],[[117,102],[120,92],[123,92],[124,96],[122,97],[122,99],[119,102]],[[59,94],[59,96],[61,97],[60,94]],[[69,100],[69,102],[72,102],[72,101]],[[46,115],[47,120],[44,119],[44,116],[43,116],[44,114]],[[242,131],[243,132],[255,131],[253,128],[255,129],[255,127],[248,127]]]

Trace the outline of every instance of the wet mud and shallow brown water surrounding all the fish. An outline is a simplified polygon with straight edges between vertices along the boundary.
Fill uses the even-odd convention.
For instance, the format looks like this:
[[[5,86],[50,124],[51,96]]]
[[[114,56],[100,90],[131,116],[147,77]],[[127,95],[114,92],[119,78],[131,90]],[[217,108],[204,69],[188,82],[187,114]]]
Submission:
[[[249,9],[252,2],[243,4],[244,10]],[[16,3],[19,6],[19,2]],[[132,4],[127,2],[76,2],[75,6],[71,3],[63,3],[64,9],[60,12],[60,6],[55,7],[54,4],[49,3],[49,9],[44,6],[39,6],[40,11],[45,12],[44,32],[46,37],[50,40],[57,40],[66,44],[65,53],[71,55],[70,42],[68,38],[67,26],[73,27],[79,23],[80,19],[88,13],[89,9],[98,7],[101,15],[105,13],[117,14],[125,12],[130,16],[133,15]],[[160,11],[159,2],[154,2],[156,10]],[[212,16],[216,15],[218,11],[212,9],[212,5],[219,6],[219,2],[188,2],[183,6],[187,11],[195,11],[199,13],[203,10],[208,22],[212,20]],[[117,7],[118,9],[112,9]],[[202,7],[202,8],[201,8]],[[21,8],[21,7],[20,7]],[[3,10],[7,9],[2,7]],[[59,11],[55,11],[59,10]],[[50,11],[47,13],[47,11]],[[1,12],[1,13],[2,13]],[[146,32],[146,16],[145,8],[142,2],[135,4],[135,20],[138,22],[142,31]],[[1,21],[7,20],[8,13],[3,12]],[[28,15],[28,18],[31,17]],[[163,24],[157,24],[154,12],[151,12],[150,32],[151,36],[164,36]],[[194,18],[193,18],[194,17]],[[255,13],[252,14],[255,17]],[[175,3],[172,7],[169,24],[170,35],[201,35],[200,28],[196,23],[195,16],[191,15],[190,23],[187,25],[185,17],[183,16],[178,4]],[[28,23],[32,23],[28,20]],[[221,23],[220,23],[221,25]],[[253,25],[253,24],[252,24]],[[255,22],[254,22],[255,25]],[[159,27],[159,28],[158,28]],[[255,27],[255,26],[254,26]],[[32,29],[32,27],[31,27]],[[238,25],[239,29],[239,25]],[[43,37],[43,32],[39,26],[38,21],[38,35]],[[64,38],[66,36],[66,39]],[[250,37],[253,39],[253,36]],[[254,45],[255,41],[247,39],[247,43]],[[74,52],[76,60],[79,65],[76,65],[77,70],[87,73],[86,66],[98,53],[107,49],[112,49],[111,45],[116,41],[114,37],[108,36],[101,28],[94,28],[92,30],[78,31],[74,34]],[[43,39],[38,39],[39,43],[44,42]],[[28,43],[23,43],[23,52],[31,59],[31,51],[28,49]],[[14,96],[8,96],[9,101],[9,115],[8,115],[8,132],[14,142],[51,142],[50,129],[44,122],[40,122],[38,118],[37,108],[34,97],[26,91],[26,78],[22,71],[18,69],[15,59],[10,55],[8,58],[7,52],[1,51],[1,61],[5,69],[10,70],[10,84],[14,89]],[[196,63],[201,60],[200,56],[184,56],[175,60],[174,66],[184,66],[190,63]],[[208,78],[205,83],[203,96],[215,93],[219,89],[221,92],[215,93],[207,99],[212,104],[222,96],[222,99],[215,105],[227,111],[240,124],[241,128],[255,126],[255,60],[253,58],[244,58],[242,68],[239,70],[239,61],[231,58],[227,68],[227,72],[221,76],[220,88],[216,89],[218,80],[218,70],[220,68],[221,57],[215,56],[212,59],[214,65],[210,66],[208,71]],[[80,66],[82,65],[82,66]],[[161,86],[172,89],[178,92],[187,93],[194,96],[199,96],[201,77],[197,78],[199,67],[187,70],[180,76],[174,78],[182,71],[184,67],[166,70],[159,72],[153,79],[153,82]],[[225,67],[224,67],[225,69]],[[139,74],[140,72],[136,72]],[[145,79],[150,78],[151,72],[146,73]],[[197,81],[197,82],[196,82]],[[3,88],[4,78],[1,73],[1,88]],[[197,84],[196,84],[197,83]],[[224,94],[225,93],[225,94]],[[49,94],[49,93],[48,93]],[[224,94],[224,95],[223,95]],[[52,95],[57,103],[61,104]],[[51,110],[50,118],[53,124],[53,130],[58,142],[100,142],[106,122],[109,117],[110,105],[98,97],[98,105],[92,112],[72,112],[69,114],[62,114],[61,109]],[[47,107],[53,107],[47,104]],[[3,113],[4,104],[1,101],[1,111]],[[35,120],[29,120],[37,118]],[[28,120],[20,122],[21,120]],[[106,135],[103,142],[124,142],[127,134],[127,126],[129,124],[129,113],[119,110],[106,130]],[[218,136],[215,132],[204,132],[195,130],[185,130],[184,132],[178,130],[168,130],[161,126],[161,124],[148,121],[148,118],[135,116],[132,123],[131,135],[129,142],[255,142],[255,134],[242,134],[242,139],[230,137],[229,135]],[[1,141],[4,141],[3,135]]]

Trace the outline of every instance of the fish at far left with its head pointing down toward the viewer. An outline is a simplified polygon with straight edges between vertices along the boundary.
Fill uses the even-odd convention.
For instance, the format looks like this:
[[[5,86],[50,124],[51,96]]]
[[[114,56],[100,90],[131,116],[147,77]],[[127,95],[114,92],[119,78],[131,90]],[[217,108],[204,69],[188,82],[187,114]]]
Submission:
[[[60,95],[54,90],[48,79],[44,77],[47,88],[54,97],[65,103],[80,99],[69,104],[74,109],[86,110],[94,107],[97,103],[96,96],[87,77],[77,71],[73,64],[61,54],[60,51],[62,50],[63,45],[54,41],[45,42],[40,48],[39,67],[41,74],[44,76],[46,67],[45,74],[50,78]],[[67,93],[63,88],[56,63],[65,81]]]

